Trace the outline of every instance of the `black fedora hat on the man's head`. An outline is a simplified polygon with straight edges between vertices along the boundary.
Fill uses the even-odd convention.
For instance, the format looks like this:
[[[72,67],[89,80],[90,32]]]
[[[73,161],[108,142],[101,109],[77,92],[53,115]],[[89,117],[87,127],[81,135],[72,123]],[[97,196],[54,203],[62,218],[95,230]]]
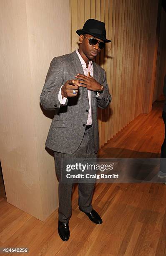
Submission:
[[[106,28],[105,24],[100,20],[89,19],[83,25],[83,29],[78,29],[76,33],[80,36],[81,34],[89,34],[95,36],[98,39],[103,40],[105,43],[111,42],[106,39]]]

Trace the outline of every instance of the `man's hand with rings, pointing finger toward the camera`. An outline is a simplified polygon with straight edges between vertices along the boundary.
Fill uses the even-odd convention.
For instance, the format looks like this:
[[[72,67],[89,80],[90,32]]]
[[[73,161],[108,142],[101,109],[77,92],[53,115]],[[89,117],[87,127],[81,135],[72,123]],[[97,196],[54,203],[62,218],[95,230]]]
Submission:
[[[80,87],[79,80],[73,79],[65,82],[63,87],[61,88],[61,94],[63,97],[75,97],[78,94],[78,88]],[[73,90],[75,90],[75,94],[73,94]]]

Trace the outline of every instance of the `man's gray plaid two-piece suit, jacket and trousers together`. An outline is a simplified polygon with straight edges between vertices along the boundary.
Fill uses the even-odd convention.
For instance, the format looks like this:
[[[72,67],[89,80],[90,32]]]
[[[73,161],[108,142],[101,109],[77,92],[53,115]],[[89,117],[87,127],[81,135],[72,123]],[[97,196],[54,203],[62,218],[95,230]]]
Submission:
[[[62,222],[68,222],[71,215],[71,202],[69,201],[72,184],[62,184],[60,182],[61,158],[69,156],[79,158],[81,150],[84,150],[83,148],[86,144],[86,148],[88,148],[86,150],[91,151],[88,157],[96,157],[99,147],[97,107],[104,109],[111,102],[106,72],[98,64],[93,62],[93,77],[100,84],[103,84],[104,91],[98,97],[96,97],[96,92],[91,91],[93,126],[90,128],[90,131],[85,131],[89,111],[87,89],[80,87],[78,95],[68,98],[65,105],[60,105],[58,100],[60,87],[67,80],[75,79],[77,73],[84,74],[80,59],[75,51],[71,54],[53,58],[40,95],[40,104],[42,107],[45,110],[55,110],[45,146],[54,151],[55,159],[57,159],[57,161],[55,160],[55,167],[59,179],[59,219]],[[79,184],[78,189],[78,204],[80,208],[83,211],[91,212],[93,185]],[[86,193],[83,193],[85,189]]]

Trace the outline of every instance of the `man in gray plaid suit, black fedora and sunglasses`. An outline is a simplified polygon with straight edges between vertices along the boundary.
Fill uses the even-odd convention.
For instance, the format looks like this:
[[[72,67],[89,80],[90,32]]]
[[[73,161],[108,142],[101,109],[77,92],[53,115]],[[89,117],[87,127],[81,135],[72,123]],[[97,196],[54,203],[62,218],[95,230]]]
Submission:
[[[97,107],[111,102],[106,72],[92,60],[104,48],[105,24],[89,19],[77,30],[80,46],[71,54],[55,57],[48,70],[40,103],[46,110],[56,110],[45,146],[54,151],[55,169],[59,181],[58,233],[63,241],[70,236],[72,214],[72,184],[61,181],[62,159],[96,158],[99,147]],[[101,224],[91,201],[94,184],[78,184],[79,209],[91,221]]]

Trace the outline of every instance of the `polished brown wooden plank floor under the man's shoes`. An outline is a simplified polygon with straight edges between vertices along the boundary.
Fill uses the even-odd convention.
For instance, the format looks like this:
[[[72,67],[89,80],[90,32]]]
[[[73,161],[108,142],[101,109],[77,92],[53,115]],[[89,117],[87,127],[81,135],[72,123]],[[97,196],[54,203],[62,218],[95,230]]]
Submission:
[[[141,114],[101,148],[101,158],[158,158],[164,136],[162,102],[150,114]],[[166,185],[98,184],[93,207],[103,219],[92,223],[78,210],[73,193],[70,239],[57,232],[57,210],[42,222],[6,201],[0,184],[0,247],[28,247],[28,255],[166,255]],[[15,254],[4,254],[15,255]],[[22,255],[22,254],[21,254]]]

